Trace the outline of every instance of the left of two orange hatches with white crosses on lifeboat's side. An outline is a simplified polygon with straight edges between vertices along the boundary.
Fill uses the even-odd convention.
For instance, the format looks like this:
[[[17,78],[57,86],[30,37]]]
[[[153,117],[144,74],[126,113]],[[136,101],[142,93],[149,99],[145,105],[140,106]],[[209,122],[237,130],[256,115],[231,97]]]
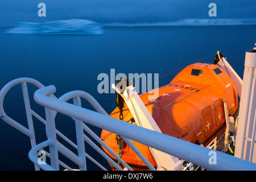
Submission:
[[[207,137],[210,133],[212,133],[212,130],[213,130],[212,112],[210,110],[210,106],[208,106],[204,110],[202,110],[201,114],[203,117],[204,136]]]

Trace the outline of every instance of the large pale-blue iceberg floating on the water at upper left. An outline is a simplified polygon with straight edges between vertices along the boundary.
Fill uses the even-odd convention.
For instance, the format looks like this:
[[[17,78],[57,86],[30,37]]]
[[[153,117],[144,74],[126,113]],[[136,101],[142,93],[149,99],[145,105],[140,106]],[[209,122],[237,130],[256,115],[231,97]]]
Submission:
[[[54,20],[45,23],[16,23],[15,28],[6,31],[9,34],[104,34],[101,23],[86,19]]]

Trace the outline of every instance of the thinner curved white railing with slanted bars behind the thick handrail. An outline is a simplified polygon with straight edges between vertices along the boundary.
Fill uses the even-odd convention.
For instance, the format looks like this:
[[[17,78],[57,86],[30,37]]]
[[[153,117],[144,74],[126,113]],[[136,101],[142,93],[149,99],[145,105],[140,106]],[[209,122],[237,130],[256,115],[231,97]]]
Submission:
[[[58,164],[60,164],[65,169],[72,170],[72,168],[68,167],[66,164],[64,164],[60,160],[55,160],[56,154],[54,155],[54,152],[51,152],[52,149],[50,151],[50,153],[52,153],[51,156],[48,152],[46,152],[45,150],[42,149],[42,148],[51,146],[51,143],[49,143],[49,141],[51,139],[47,140],[46,142],[40,143],[38,146],[36,146],[32,115],[35,118],[37,118],[39,121],[44,123],[44,125],[47,125],[47,121],[45,119],[43,119],[42,117],[40,117],[39,114],[35,113],[35,111],[30,108],[30,101],[29,101],[29,97],[28,97],[27,83],[34,84],[38,88],[44,87],[40,82],[38,82],[38,81],[36,81],[32,78],[18,78],[18,79],[15,79],[15,80],[9,82],[8,84],[6,84],[2,88],[2,90],[0,91],[0,102],[1,102],[0,114],[1,114],[1,118],[3,119],[3,121],[8,123],[9,125],[15,127],[15,129],[21,131],[23,134],[30,137],[31,147],[32,148],[34,147],[31,151],[34,151],[36,148],[38,148],[38,146],[40,146],[40,149],[36,150],[36,151],[44,151],[45,154],[49,158],[51,158],[51,161],[52,161],[51,163],[53,164],[53,166],[55,166],[55,169],[59,168]],[[3,100],[5,98],[6,93],[11,88],[13,88],[13,86],[18,85],[18,84],[22,85],[23,98],[24,98],[24,104],[25,104],[25,109],[26,109],[26,114],[27,114],[27,122],[28,122],[28,127],[29,127],[28,129],[26,127],[20,125],[18,122],[14,121],[14,119],[10,118],[8,115],[6,115],[5,110],[3,109]],[[57,99],[53,94],[51,94],[51,97]],[[85,100],[87,100],[94,107],[94,109],[96,109],[96,111],[98,111],[101,114],[108,115],[108,113],[106,113],[106,111],[100,106],[100,104],[98,104],[98,102],[92,96],[90,96],[90,94],[88,94],[86,92],[83,92],[83,91],[73,91],[73,92],[66,93],[63,96],[61,96],[59,98],[59,100],[63,101],[63,102],[67,102],[68,100],[71,100],[72,98],[73,98],[73,103],[75,105],[78,105],[78,106],[81,106],[80,98],[84,98]],[[49,118],[54,120],[54,118],[56,117],[56,114],[57,114],[56,111],[48,110],[46,108],[46,118],[48,118],[48,120],[49,120]],[[51,137],[52,134],[56,133],[61,138],[63,138],[66,142],[68,142],[73,148],[78,150],[80,156],[79,157],[75,156],[75,154],[73,154],[70,150],[68,150],[66,147],[64,147],[63,144],[60,144],[59,142],[56,142],[56,144],[58,146],[58,150],[60,150],[60,152],[62,152],[65,156],[67,156],[69,159],[71,159],[73,162],[75,162],[79,166],[81,166],[81,164],[82,164],[82,167],[80,167],[80,169],[82,169],[82,170],[86,169],[86,165],[85,165],[86,164],[86,158],[90,159],[93,163],[95,163],[101,169],[106,170],[105,167],[103,167],[100,163],[98,163],[96,160],[94,160],[91,156],[86,154],[86,152],[84,151],[84,141],[83,141],[83,140],[85,140],[85,142],[89,143],[90,146],[92,146],[98,153],[100,153],[102,156],[104,156],[104,158],[106,160],[108,160],[110,163],[112,163],[115,168],[117,168],[118,170],[122,170],[122,168],[120,166],[118,166],[117,163],[115,163],[108,155],[105,154],[104,151],[102,151],[96,144],[94,144],[92,142],[92,140],[90,140],[86,135],[83,134],[83,130],[84,130],[90,136],[92,136],[93,139],[95,139],[98,143],[100,143],[102,147],[104,147],[106,150],[108,150],[110,152],[110,154],[112,154],[115,157],[115,159],[117,159],[121,164],[123,164],[123,166],[125,166],[129,170],[132,170],[130,168],[130,166],[127,165],[117,154],[115,154],[115,152],[112,151],[96,134],[94,134],[93,131],[90,130],[88,126],[86,126],[84,123],[82,123],[80,121],[77,121],[77,119],[74,119],[74,120],[75,120],[75,123],[76,123],[77,141],[78,141],[78,143],[80,143],[81,147],[77,147],[77,145],[75,143],[73,143],[70,139],[65,137],[65,135],[60,133],[58,130],[53,129],[55,127],[54,123],[48,122],[48,125],[46,127],[47,137],[52,138]],[[49,127],[51,125],[53,125],[53,127]],[[55,140],[56,140],[56,138],[55,138]],[[148,162],[148,160],[141,154],[141,152],[137,149],[136,146],[134,146],[134,144],[129,139],[124,139],[124,140],[127,144],[129,144],[131,149],[135,151],[135,153],[139,156],[139,158],[142,159],[142,161],[148,166],[148,168],[150,168],[151,170],[155,170],[155,168],[151,165],[151,163]],[[50,148],[52,148],[52,147],[50,147]],[[36,152],[35,154],[38,154],[38,152]],[[33,158],[33,156],[32,156],[32,158]],[[83,160],[81,160],[81,159],[84,159],[85,162],[83,162]],[[38,162],[35,162],[35,163],[37,165],[39,164]],[[37,165],[35,165],[36,170],[39,170],[40,168],[48,169],[48,170],[53,169],[52,167],[49,167],[48,165],[45,165],[45,164],[40,165],[40,168]]]

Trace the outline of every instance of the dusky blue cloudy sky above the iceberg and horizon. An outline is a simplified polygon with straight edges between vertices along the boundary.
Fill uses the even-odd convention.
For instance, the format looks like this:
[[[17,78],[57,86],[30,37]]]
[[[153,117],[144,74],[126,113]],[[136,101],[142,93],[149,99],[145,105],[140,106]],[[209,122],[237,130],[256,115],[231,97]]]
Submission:
[[[100,23],[156,23],[184,18],[256,18],[255,0],[0,0],[0,26],[15,22],[46,22],[58,19],[90,19]],[[46,17],[39,17],[39,3]],[[209,17],[209,3],[217,16]]]

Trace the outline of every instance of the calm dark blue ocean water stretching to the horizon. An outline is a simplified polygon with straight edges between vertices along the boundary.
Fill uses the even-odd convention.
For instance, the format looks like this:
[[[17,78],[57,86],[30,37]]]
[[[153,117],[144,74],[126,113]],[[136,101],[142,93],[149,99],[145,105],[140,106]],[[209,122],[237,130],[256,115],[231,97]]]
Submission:
[[[115,75],[159,73],[159,86],[163,86],[181,68],[220,51],[242,78],[245,52],[256,43],[256,26],[107,27],[103,35],[19,35],[5,34],[5,30],[0,30],[0,88],[15,78],[31,77],[45,86],[55,85],[56,97],[84,90],[109,114],[116,107],[115,94],[97,92],[100,73],[110,76],[112,68]],[[213,60],[214,55],[202,62]],[[44,109],[32,101],[36,88],[28,86],[31,107],[43,116]],[[10,117],[26,126],[22,99],[21,86],[15,86],[6,95],[4,107]],[[82,106],[92,109],[84,101]],[[39,143],[46,139],[45,127],[36,119],[34,123]],[[71,119],[57,115],[57,129],[76,143],[73,125]],[[92,129],[100,135],[100,129]],[[30,140],[2,120],[0,144],[0,170],[34,169],[28,159]],[[90,147],[86,151],[100,158]],[[108,167],[104,159],[101,161]],[[89,163],[88,169],[98,168]]]

